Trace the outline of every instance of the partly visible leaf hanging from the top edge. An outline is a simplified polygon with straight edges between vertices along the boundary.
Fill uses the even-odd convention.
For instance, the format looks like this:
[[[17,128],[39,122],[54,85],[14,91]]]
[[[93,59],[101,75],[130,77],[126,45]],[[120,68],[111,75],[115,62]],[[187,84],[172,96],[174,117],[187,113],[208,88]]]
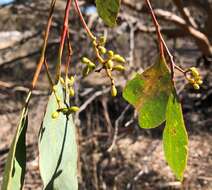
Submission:
[[[120,4],[121,0],[96,0],[99,16],[110,27],[116,25]]]

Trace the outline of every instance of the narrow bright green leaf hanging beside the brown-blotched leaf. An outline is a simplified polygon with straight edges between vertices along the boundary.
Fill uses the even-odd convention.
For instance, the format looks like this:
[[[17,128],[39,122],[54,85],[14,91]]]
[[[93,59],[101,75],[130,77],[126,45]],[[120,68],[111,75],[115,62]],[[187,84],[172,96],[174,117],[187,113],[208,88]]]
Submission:
[[[170,95],[167,105],[163,146],[169,166],[177,179],[182,180],[187,164],[188,135],[184,125],[181,104],[176,93]]]

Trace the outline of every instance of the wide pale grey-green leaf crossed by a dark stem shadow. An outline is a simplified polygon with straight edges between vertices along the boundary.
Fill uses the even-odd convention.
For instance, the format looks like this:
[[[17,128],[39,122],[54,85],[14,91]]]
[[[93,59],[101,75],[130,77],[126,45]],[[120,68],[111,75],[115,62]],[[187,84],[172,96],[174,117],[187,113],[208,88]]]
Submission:
[[[56,95],[64,104],[64,92],[60,83]],[[75,125],[71,115],[52,118],[58,109],[54,93],[51,94],[43,124],[39,133],[39,166],[44,189],[77,190],[77,143]]]

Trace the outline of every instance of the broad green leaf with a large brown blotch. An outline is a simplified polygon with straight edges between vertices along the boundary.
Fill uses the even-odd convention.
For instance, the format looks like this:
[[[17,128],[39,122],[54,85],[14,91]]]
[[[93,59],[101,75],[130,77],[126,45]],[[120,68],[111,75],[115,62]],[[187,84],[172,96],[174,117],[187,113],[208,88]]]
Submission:
[[[164,59],[127,83],[123,97],[138,111],[140,127],[154,128],[165,121],[172,88],[171,74]]]

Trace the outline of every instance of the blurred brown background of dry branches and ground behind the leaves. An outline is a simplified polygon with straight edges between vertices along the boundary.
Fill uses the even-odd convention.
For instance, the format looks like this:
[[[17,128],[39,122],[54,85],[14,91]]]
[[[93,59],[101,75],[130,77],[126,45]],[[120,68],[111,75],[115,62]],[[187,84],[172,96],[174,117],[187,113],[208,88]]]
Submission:
[[[120,53],[128,62],[126,72],[115,76],[119,90],[116,98],[110,96],[109,81],[103,73],[94,72],[82,78],[81,57],[94,55],[91,41],[71,9],[71,73],[77,76],[76,96],[72,102],[81,106],[81,111],[74,116],[80,151],[80,189],[211,190],[212,1],[151,1],[175,62],[183,68],[198,67],[204,81],[196,91],[186,84],[180,73],[175,77],[190,139],[188,167],[182,184],[176,181],[164,161],[161,142],[164,126],[140,129],[134,109],[121,95],[126,80],[153,64],[158,55],[155,28],[144,1],[122,0],[115,28],[104,25],[94,1],[79,2],[91,30],[97,36],[106,35],[107,48]],[[52,75],[65,5],[65,0],[57,0],[48,42],[47,60]],[[49,6],[50,0],[0,0],[0,184],[20,110],[40,55]],[[37,139],[49,95],[44,69],[33,93],[24,189],[41,190]]]

